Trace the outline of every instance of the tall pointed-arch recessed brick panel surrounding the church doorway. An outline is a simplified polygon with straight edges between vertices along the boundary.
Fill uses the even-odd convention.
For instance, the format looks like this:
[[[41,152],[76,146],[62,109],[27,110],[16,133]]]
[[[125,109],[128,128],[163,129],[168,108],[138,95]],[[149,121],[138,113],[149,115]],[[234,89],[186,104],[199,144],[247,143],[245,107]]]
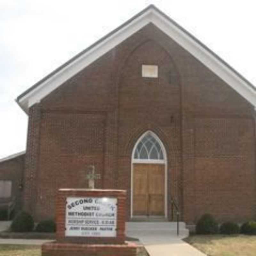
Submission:
[[[150,54],[148,54],[150,52]],[[159,67],[158,78],[141,76],[142,64]],[[118,154],[119,188],[131,195],[131,156],[139,137],[152,130],[167,149],[168,194],[180,199],[180,84],[179,73],[169,53],[147,40],[125,60],[119,82]],[[169,198],[170,199],[170,198]],[[130,209],[130,200],[128,201]],[[129,216],[129,212],[127,213]]]

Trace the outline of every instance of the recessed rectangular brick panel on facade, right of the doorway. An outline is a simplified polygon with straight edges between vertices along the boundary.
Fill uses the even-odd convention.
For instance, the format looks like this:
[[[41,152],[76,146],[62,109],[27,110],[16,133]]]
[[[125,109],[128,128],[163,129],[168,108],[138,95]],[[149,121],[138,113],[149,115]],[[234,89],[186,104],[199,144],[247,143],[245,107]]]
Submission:
[[[211,212],[220,220],[254,215],[254,122],[239,118],[195,119],[197,218]]]

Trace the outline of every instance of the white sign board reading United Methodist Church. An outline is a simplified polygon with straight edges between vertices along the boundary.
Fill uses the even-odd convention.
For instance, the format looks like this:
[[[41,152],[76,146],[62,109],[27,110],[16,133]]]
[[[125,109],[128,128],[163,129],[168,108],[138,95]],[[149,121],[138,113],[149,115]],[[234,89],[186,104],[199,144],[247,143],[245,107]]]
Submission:
[[[65,236],[116,236],[117,198],[67,197]]]

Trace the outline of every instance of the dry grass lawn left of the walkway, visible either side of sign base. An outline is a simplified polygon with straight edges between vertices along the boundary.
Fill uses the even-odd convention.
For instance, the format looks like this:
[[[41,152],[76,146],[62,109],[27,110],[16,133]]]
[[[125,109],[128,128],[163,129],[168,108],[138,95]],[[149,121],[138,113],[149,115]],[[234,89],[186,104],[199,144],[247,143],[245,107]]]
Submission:
[[[147,255],[143,247],[138,248],[137,256]],[[0,256],[41,256],[41,246],[0,244]]]

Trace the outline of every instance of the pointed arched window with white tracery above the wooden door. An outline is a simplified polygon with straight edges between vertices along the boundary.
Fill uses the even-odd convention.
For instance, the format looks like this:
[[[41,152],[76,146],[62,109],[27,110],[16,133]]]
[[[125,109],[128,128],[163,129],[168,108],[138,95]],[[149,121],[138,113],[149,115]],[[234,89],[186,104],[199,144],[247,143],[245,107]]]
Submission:
[[[162,147],[152,132],[147,132],[140,138],[134,150],[133,159],[164,160]]]

